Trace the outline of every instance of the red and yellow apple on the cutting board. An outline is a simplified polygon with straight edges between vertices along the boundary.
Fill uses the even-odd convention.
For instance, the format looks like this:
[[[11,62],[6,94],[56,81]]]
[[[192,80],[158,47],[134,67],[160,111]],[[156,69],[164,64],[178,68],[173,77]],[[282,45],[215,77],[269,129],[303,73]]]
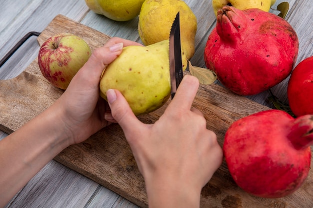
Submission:
[[[56,34],[40,47],[38,65],[42,75],[55,87],[66,89],[91,55],[89,45],[70,33]]]

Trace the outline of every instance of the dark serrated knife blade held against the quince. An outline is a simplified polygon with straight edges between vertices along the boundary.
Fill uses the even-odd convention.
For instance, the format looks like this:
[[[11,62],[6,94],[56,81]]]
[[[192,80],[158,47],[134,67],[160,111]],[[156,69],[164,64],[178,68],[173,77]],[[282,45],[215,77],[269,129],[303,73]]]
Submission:
[[[176,15],[169,35],[169,71],[171,83],[171,99],[173,99],[177,88],[183,78],[179,12]]]

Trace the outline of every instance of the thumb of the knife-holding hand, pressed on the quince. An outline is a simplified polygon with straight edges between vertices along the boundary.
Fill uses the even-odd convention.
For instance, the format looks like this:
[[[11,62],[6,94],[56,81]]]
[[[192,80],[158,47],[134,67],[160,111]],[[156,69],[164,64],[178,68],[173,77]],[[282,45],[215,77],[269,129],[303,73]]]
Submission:
[[[140,125],[143,125],[132,112],[127,100],[118,90],[109,89],[106,92],[106,96],[112,116],[121,126],[125,135],[136,128],[140,128]]]

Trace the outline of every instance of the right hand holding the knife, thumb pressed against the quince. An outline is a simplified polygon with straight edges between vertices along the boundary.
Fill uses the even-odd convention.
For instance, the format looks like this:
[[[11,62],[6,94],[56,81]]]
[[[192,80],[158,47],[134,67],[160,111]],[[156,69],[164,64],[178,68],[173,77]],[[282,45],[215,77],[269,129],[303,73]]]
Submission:
[[[150,208],[199,207],[200,192],[222,162],[216,134],[192,107],[199,82],[186,75],[154,124],[143,124],[117,90],[108,90],[112,115],[122,127],[147,187]]]

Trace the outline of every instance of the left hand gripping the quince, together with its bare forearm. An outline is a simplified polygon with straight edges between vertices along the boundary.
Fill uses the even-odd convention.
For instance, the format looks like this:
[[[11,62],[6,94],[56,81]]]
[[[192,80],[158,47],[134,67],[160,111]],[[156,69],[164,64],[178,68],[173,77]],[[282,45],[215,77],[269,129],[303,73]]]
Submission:
[[[0,141],[0,207],[63,149],[109,124],[104,119],[109,107],[99,98],[100,77],[128,45],[138,43],[112,38],[95,49],[51,107]]]

